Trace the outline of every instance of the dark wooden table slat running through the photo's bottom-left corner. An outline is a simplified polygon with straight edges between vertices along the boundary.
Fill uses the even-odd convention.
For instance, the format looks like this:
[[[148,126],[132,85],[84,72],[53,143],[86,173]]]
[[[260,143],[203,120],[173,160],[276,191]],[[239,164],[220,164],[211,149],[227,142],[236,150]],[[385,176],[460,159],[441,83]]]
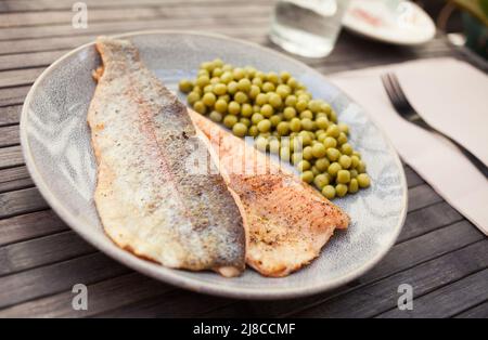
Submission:
[[[0,311],[0,317],[85,317],[107,312],[127,304],[164,295],[175,288],[143,276],[130,273],[88,286],[87,311],[72,308],[70,290],[50,297],[21,303]]]

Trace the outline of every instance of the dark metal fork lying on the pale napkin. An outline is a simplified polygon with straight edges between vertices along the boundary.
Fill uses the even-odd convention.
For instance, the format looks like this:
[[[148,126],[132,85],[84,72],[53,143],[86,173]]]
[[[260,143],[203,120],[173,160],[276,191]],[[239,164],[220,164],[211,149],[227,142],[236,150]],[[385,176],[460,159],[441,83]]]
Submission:
[[[488,178],[488,167],[485,166],[485,164],[478,159],[475,155],[473,155],[468,149],[466,149],[464,146],[455,142],[450,136],[446,135],[445,133],[434,129],[432,126],[429,126],[422,117],[415,112],[415,109],[412,107],[410,102],[408,101],[407,96],[404,95],[403,90],[400,87],[400,82],[398,81],[398,78],[393,73],[387,73],[382,76],[383,86],[386,90],[386,93],[388,94],[389,101],[391,102],[393,106],[397,110],[397,113],[406,120],[413,122],[414,125],[424,128],[425,130],[433,131],[435,133],[440,134],[441,136],[448,139],[450,142],[452,142],[455,146],[459,147],[459,149],[464,154],[464,156],[470,159],[470,161],[485,175],[485,178]]]

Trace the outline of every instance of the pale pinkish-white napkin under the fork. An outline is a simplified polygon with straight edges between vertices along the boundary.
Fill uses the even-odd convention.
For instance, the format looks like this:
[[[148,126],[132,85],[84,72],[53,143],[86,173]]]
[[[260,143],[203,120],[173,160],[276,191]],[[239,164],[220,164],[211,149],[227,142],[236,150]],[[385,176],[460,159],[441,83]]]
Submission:
[[[488,77],[453,58],[429,58],[332,75],[363,106],[402,159],[488,235],[488,181],[449,141],[395,112],[380,76],[395,71],[415,110],[488,165]]]

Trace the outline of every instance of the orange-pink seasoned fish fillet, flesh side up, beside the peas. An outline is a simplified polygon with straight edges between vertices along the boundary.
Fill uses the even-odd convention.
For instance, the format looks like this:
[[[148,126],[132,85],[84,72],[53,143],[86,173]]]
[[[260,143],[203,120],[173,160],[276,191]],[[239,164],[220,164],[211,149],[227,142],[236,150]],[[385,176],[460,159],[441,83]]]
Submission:
[[[247,233],[246,262],[266,276],[286,276],[320,254],[335,228],[349,218],[264,153],[190,112],[210,141],[229,187],[239,196]]]

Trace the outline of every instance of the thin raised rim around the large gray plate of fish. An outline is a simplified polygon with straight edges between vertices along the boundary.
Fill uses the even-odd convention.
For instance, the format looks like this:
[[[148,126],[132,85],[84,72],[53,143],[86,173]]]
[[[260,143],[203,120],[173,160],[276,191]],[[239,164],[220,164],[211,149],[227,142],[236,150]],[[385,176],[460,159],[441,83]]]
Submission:
[[[391,141],[386,135],[386,133],[383,131],[382,128],[380,128],[378,125],[376,125],[375,120],[368,114],[365,109],[362,108],[359,104],[356,103],[356,101],[352,101],[347,93],[345,93],[343,90],[337,88],[333,82],[328,80],[324,75],[321,73],[314,70],[313,68],[309,67],[305,63],[294,60],[293,57],[285,55],[283,53],[280,53],[278,51],[271,50],[269,48],[262,47],[260,44],[236,39],[236,38],[230,38],[223,35],[219,34],[210,34],[210,32],[201,32],[195,30],[178,30],[178,29],[151,29],[151,30],[137,30],[137,31],[130,31],[125,34],[118,34],[118,35],[110,35],[110,37],[113,38],[127,38],[127,37],[134,37],[134,36],[144,36],[144,35],[193,35],[193,36],[204,36],[204,37],[210,37],[216,39],[222,39],[232,41],[234,43],[241,43],[244,45],[253,47],[256,49],[261,50],[265,53],[271,53],[280,58],[285,58],[286,61],[298,64],[300,67],[306,67],[307,69],[311,70],[313,74],[316,74],[322,81],[325,81],[328,84],[332,86],[336,90],[338,90],[339,93],[345,95],[350,102],[355,103],[359,107],[361,107],[363,114],[368,117],[368,119],[378,129],[380,133],[382,134],[382,138],[385,140],[385,143],[390,151],[390,154],[394,157],[394,161],[396,166],[400,170],[400,185],[403,188],[403,195],[402,195],[402,202],[401,202],[401,211],[400,211],[400,218],[397,225],[395,225],[395,234],[389,240],[388,244],[386,244],[378,253],[370,259],[368,262],[364,262],[360,267],[357,270],[348,273],[347,275],[343,275],[336,279],[328,280],[328,282],[319,282],[319,284],[308,285],[308,286],[298,286],[298,287],[286,287],[286,288],[274,288],[273,290],[259,290],[255,288],[246,288],[246,287],[230,287],[230,286],[220,286],[213,283],[207,283],[205,280],[198,280],[197,278],[192,278],[188,276],[183,276],[179,274],[178,272],[181,270],[175,270],[165,267],[160,264],[154,264],[157,265],[157,273],[151,269],[151,266],[141,266],[139,261],[144,261],[142,259],[139,259],[132,253],[127,252],[126,250],[123,250],[120,248],[114,248],[110,247],[110,244],[102,243],[99,240],[99,236],[95,235],[92,232],[92,228],[87,227],[89,225],[88,223],[84,222],[79,217],[73,215],[59,200],[52,193],[40,174],[40,172],[37,170],[37,165],[35,162],[33,152],[29,147],[28,142],[28,134],[27,134],[27,114],[28,108],[30,107],[30,103],[33,101],[33,97],[35,93],[37,92],[37,87],[41,83],[41,81],[47,78],[50,73],[57,67],[59,64],[61,64],[66,58],[70,57],[72,55],[75,55],[79,51],[89,48],[94,44],[94,40],[90,41],[88,43],[85,43],[66,54],[62,55],[60,58],[57,58],[55,62],[53,62],[48,68],[46,68],[42,74],[36,79],[31,88],[29,89],[29,92],[27,93],[23,107],[21,113],[21,123],[20,123],[20,130],[21,130],[21,145],[22,145],[22,153],[24,156],[24,160],[27,167],[27,170],[33,178],[34,183],[36,184],[37,188],[39,189],[42,197],[48,201],[49,206],[54,210],[54,212],[72,228],[74,230],[81,238],[84,238],[86,241],[88,241],[90,245],[92,245],[98,250],[102,251],[104,254],[108,256],[110,258],[116,260],[117,262],[121,262],[124,265],[139,272],[143,273],[144,275],[147,275],[150,277],[153,277],[155,279],[168,283],[170,285],[181,287],[184,289],[189,289],[192,291],[201,292],[201,293],[207,293],[213,296],[219,296],[219,297],[226,297],[226,298],[237,298],[237,299],[253,299],[253,300],[277,300],[277,299],[290,299],[290,298],[300,298],[306,296],[311,296],[314,293],[323,292],[326,290],[331,290],[333,288],[339,287],[342,285],[345,285],[352,279],[361,276],[369,270],[371,270],[376,263],[380,262],[381,259],[385,257],[385,254],[391,249],[391,247],[395,245],[402,226],[404,224],[404,220],[407,217],[407,207],[408,207],[408,186],[407,186],[407,180],[406,174],[403,170],[403,166],[400,161],[400,158],[398,156],[398,153],[396,152],[395,147],[393,146]],[[107,35],[108,36],[108,35]],[[92,235],[93,234],[93,235]],[[217,275],[217,274],[216,274]],[[231,278],[230,278],[231,279]],[[268,278],[272,279],[272,278]]]

